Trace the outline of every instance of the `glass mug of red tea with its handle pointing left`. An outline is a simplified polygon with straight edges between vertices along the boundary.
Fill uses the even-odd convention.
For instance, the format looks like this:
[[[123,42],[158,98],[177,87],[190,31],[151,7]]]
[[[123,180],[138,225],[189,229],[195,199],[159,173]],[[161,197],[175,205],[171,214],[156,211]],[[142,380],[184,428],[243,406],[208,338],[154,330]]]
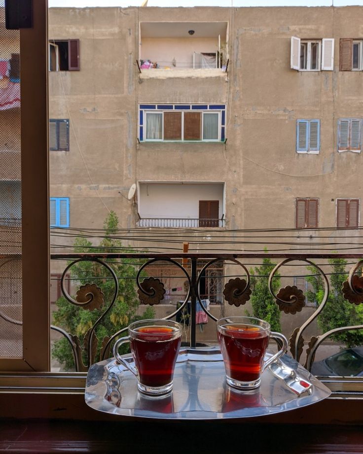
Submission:
[[[162,395],[173,387],[173,374],[182,338],[182,325],[171,320],[151,319],[134,322],[129,335],[113,346],[116,360],[136,375],[138,389],[148,395]],[[130,342],[135,367],[122,358],[118,349]]]

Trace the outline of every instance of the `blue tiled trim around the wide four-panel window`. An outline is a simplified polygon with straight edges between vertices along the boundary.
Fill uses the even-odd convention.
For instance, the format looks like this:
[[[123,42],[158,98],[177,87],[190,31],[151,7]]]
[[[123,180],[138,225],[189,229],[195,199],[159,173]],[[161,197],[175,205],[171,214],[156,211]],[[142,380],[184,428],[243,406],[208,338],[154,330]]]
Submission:
[[[220,141],[225,140],[225,104],[140,104],[139,106],[139,140],[144,141],[144,120],[145,110],[165,111],[165,110],[198,110],[198,111],[220,111]],[[189,142],[189,141],[187,141]],[[201,140],[203,142],[203,140]]]

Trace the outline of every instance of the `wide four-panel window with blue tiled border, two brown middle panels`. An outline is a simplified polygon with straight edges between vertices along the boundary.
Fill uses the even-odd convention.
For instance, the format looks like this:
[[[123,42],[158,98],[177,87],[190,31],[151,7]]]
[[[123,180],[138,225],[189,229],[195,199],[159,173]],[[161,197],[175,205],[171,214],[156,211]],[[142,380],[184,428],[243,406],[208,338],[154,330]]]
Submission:
[[[141,104],[141,141],[224,141],[225,105]]]

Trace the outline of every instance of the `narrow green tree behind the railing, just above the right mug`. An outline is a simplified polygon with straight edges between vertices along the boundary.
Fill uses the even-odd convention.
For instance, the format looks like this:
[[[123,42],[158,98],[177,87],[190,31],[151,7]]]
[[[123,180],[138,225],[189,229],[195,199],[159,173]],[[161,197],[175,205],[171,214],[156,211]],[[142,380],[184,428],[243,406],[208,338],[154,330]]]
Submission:
[[[271,262],[269,258],[264,258],[262,265],[250,270],[251,304],[254,317],[266,320],[271,325],[271,330],[281,332],[280,310],[268,289],[268,276],[274,267],[275,263]],[[254,276],[252,276],[253,274]],[[279,288],[280,274],[276,273],[272,281],[272,289],[276,292]]]

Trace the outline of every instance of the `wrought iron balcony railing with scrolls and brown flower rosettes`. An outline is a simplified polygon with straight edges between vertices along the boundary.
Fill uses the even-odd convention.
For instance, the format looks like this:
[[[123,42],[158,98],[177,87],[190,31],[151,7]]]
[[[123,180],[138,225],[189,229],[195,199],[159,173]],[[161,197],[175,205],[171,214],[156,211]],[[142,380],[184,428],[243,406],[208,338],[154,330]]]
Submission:
[[[119,281],[121,279],[134,279],[135,286],[139,300],[142,304],[146,305],[157,305],[159,303],[168,302],[166,300],[166,289],[164,282],[165,276],[157,276],[158,271],[156,265],[160,264],[165,267],[165,264],[170,267],[174,267],[177,273],[174,273],[174,277],[180,279],[184,283],[184,298],[171,314],[165,316],[165,319],[171,319],[175,316],[179,316],[185,311],[186,307],[189,307],[188,312],[188,324],[189,324],[189,344],[190,346],[196,345],[196,311],[200,308],[206,314],[209,319],[214,321],[217,318],[208,312],[202,304],[203,296],[199,293],[201,280],[205,279],[206,270],[213,267],[218,263],[224,264],[224,275],[223,278],[223,295],[224,301],[222,301],[223,307],[235,306],[241,310],[241,315],[244,315],[243,306],[251,297],[251,269],[248,267],[261,262],[261,259],[270,258],[277,263],[268,277],[268,289],[270,294],[273,296],[275,303],[277,304],[280,311],[285,314],[294,317],[297,312],[300,312],[305,306],[305,295],[301,289],[295,286],[286,285],[285,287],[276,291],[273,289],[274,279],[280,275],[281,278],[292,277],[288,275],[286,269],[292,267],[294,273],[296,273],[295,267],[309,266],[310,270],[313,271],[313,275],[319,276],[323,283],[323,292],[321,295],[321,301],[316,307],[313,314],[307,318],[300,326],[297,326],[290,333],[290,354],[296,361],[303,363],[307,369],[311,369],[312,363],[314,362],[315,354],[318,347],[324,340],[329,336],[342,333],[344,331],[351,330],[363,330],[363,325],[354,324],[352,326],[337,326],[327,332],[317,332],[316,335],[306,337],[307,328],[312,326],[312,322],[322,314],[323,311],[327,310],[327,300],[329,296],[329,279],[330,274],[327,269],[329,266],[329,259],[346,259],[348,261],[347,266],[350,268],[349,275],[343,285],[342,293],[344,298],[349,304],[358,306],[363,303],[363,276],[361,268],[363,266],[363,254],[337,254],[337,253],[325,253],[317,254],[311,253],[306,254],[281,254],[281,253],[241,253],[241,254],[149,254],[149,253],[105,253],[105,254],[51,254],[52,260],[67,260],[68,265],[65,268],[61,278],[61,288],[63,294],[67,300],[77,306],[82,307],[84,310],[92,310],[95,307],[103,308],[102,315],[89,328],[84,341],[84,347],[81,346],[80,339],[72,333],[66,332],[60,327],[52,326],[53,330],[62,333],[69,341],[70,347],[73,351],[75,368],[76,371],[86,371],[88,367],[96,362],[96,344],[99,340],[96,338],[96,328],[102,323],[102,320],[107,314],[112,313],[112,308],[119,297]],[[128,263],[129,266],[136,267],[135,275],[123,276],[122,278],[116,276],[113,270],[113,264],[123,260]],[[98,264],[99,269],[103,268],[107,271],[109,279],[113,280],[113,292],[109,298],[109,301],[104,301],[104,295],[102,292],[102,283],[105,283],[105,277],[98,278],[96,283],[92,282],[92,276],[89,277],[89,283],[82,285],[76,292],[75,298],[73,298],[66,290],[65,277],[72,276],[72,268],[81,262],[95,262]],[[198,266],[199,264],[199,266]],[[202,264],[202,265],[201,265]],[[148,269],[152,269],[154,276],[150,273],[146,273]],[[348,273],[348,269],[347,269]],[[148,276],[148,277],[145,277]],[[77,282],[77,281],[75,281]],[[79,281],[78,281],[79,282]],[[82,281],[84,282],[84,280]],[[100,287],[99,287],[100,285]],[[122,296],[122,295],[121,295]],[[200,306],[198,306],[198,303]],[[233,309],[233,308],[231,308]],[[102,348],[100,360],[109,357],[110,346],[112,342],[120,336],[127,327],[122,328],[114,333],[109,333],[107,337],[102,339]],[[101,342],[101,340],[100,340]],[[303,354],[304,353],[304,354]],[[83,359],[86,357],[85,362]],[[83,358],[83,359],[82,359]]]

